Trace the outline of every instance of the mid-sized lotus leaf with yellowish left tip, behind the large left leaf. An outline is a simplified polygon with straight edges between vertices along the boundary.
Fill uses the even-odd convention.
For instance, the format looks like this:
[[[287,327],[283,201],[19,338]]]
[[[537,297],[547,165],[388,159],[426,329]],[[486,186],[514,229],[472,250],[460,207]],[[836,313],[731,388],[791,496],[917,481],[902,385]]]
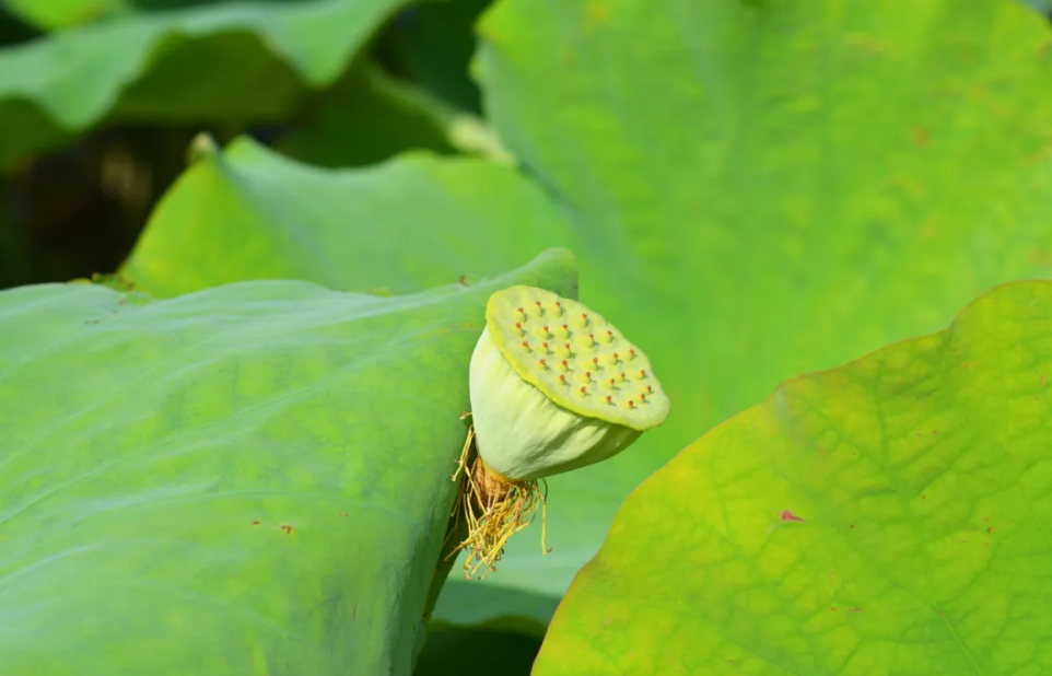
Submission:
[[[420,152],[326,172],[243,138],[179,178],[122,272],[157,296],[283,278],[411,293],[523,265],[545,242],[573,250],[563,232],[511,167]]]

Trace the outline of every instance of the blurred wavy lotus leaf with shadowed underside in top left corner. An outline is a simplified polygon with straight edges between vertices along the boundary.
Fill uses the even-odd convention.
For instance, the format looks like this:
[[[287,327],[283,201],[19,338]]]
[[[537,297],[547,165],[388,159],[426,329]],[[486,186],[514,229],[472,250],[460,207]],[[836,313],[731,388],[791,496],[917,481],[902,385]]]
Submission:
[[[214,4],[0,50],[0,167],[103,118],[280,119],[306,90],[335,82],[399,4]]]

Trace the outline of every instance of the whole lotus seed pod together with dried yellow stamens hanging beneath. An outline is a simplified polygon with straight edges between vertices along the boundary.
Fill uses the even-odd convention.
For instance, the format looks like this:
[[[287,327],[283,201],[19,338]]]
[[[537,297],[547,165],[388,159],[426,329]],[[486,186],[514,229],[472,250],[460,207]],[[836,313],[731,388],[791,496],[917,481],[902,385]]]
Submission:
[[[533,287],[490,296],[469,380],[472,426],[453,474],[464,477],[454,521],[464,515],[467,537],[455,551],[468,550],[468,578],[495,570],[543,509],[545,477],[616,455],[668,417],[641,349],[603,315]]]

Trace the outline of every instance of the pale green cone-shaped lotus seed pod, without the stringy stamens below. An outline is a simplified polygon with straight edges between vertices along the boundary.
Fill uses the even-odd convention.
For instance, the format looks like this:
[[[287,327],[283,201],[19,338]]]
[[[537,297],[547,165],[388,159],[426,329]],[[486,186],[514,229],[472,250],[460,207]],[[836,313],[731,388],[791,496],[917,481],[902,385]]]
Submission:
[[[571,320],[549,326],[560,337],[558,357],[541,362],[522,347],[516,324],[535,335],[559,316]],[[629,354],[631,370],[623,363]],[[470,394],[479,455],[511,481],[611,457],[663,423],[669,410],[646,354],[617,327],[576,301],[533,287],[490,296],[471,357]]]

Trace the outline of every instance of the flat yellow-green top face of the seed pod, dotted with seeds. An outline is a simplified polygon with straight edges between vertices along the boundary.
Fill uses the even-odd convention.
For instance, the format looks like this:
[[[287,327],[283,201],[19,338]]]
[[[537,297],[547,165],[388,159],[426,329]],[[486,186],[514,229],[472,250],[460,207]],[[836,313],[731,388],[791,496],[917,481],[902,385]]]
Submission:
[[[490,296],[486,323],[515,372],[557,405],[640,431],[668,417],[646,354],[586,305],[511,287]]]

